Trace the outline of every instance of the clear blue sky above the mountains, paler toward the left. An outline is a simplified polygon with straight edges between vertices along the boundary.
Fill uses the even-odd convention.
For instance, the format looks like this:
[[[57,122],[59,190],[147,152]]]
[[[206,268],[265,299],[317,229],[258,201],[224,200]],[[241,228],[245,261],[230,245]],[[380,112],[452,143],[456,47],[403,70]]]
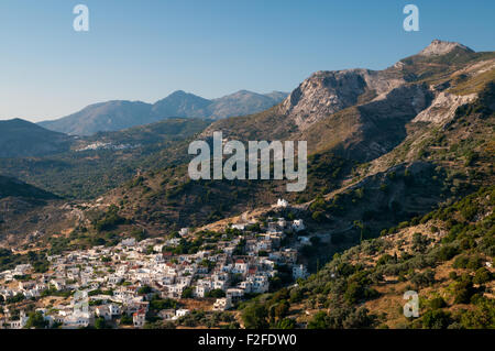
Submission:
[[[89,31],[73,28],[77,4]],[[406,32],[406,4],[419,31]],[[1,0],[0,120],[87,105],[292,91],[317,70],[383,69],[433,39],[493,51],[495,1]]]

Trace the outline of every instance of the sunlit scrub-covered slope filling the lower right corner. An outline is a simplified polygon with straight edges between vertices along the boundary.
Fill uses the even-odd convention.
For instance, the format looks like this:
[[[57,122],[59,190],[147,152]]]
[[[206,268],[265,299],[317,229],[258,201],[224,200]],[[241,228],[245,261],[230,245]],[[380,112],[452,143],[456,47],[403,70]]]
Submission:
[[[297,286],[249,303],[243,320],[246,327],[294,320],[301,328],[495,328],[494,206],[495,188],[482,188],[404,222],[336,254]],[[403,315],[407,290],[419,295],[418,318]]]

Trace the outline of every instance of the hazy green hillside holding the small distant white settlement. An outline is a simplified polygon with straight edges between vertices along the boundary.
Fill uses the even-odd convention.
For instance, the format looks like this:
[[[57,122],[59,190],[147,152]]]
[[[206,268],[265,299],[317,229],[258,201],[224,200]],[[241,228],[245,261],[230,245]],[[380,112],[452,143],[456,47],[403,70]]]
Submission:
[[[0,168],[4,175],[62,197],[95,198],[139,172],[184,158],[172,150],[209,123],[197,119],[168,119],[119,132],[101,132],[78,138],[72,150],[57,155],[0,158]]]

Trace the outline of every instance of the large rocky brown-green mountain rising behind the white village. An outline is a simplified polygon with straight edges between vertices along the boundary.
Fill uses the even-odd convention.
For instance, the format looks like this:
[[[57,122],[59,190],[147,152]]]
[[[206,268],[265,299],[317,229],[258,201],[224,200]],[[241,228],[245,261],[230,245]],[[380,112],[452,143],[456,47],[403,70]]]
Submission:
[[[222,131],[223,138],[244,142],[308,141],[304,193],[286,193],[284,182],[193,182],[187,164],[177,164],[142,174],[138,183],[110,191],[107,200],[128,198],[122,213],[150,227],[196,227],[277,197],[312,204],[322,196],[324,205],[311,207],[316,218],[341,216],[336,208],[348,213],[322,230],[339,231],[365,218],[376,234],[466,195],[493,179],[495,53],[438,41],[430,47],[427,52],[442,54],[413,55],[384,70],[317,72],[282,103],[216,121],[200,134],[209,139]],[[177,152],[186,154],[187,149]],[[397,174],[410,174],[415,182],[400,177],[387,184]],[[360,191],[373,196],[369,206],[354,208],[354,193]],[[334,194],[341,194],[337,202]]]

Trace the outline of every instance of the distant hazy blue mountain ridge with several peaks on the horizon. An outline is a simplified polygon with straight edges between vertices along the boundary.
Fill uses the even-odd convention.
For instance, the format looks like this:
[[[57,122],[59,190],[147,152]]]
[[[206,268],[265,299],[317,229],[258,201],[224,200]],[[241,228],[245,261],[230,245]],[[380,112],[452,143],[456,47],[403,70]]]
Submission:
[[[118,131],[167,118],[220,119],[250,114],[277,105],[285,97],[284,92],[278,91],[260,95],[242,90],[208,100],[178,90],[154,105],[122,100],[95,103],[79,112],[38,124],[72,135],[91,135],[100,131]]]

